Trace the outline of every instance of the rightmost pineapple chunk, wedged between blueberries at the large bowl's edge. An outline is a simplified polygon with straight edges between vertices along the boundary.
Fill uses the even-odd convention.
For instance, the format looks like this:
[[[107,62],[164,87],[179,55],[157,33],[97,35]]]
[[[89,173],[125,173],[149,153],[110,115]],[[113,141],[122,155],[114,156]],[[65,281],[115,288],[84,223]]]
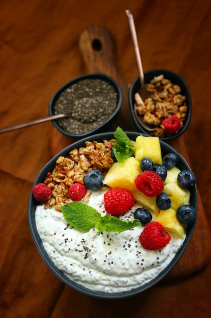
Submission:
[[[183,204],[189,204],[190,191],[182,189],[178,183],[168,183],[164,185],[163,192],[166,192],[172,201],[172,208],[177,209]]]

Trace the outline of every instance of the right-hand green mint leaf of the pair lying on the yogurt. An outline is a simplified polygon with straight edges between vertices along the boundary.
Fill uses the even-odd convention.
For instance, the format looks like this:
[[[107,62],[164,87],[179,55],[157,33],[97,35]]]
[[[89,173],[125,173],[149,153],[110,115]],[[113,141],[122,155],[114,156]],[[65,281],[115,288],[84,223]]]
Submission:
[[[97,222],[96,228],[98,230],[98,235],[101,231],[105,230],[106,232],[117,232],[121,233],[141,225],[138,219],[134,219],[133,221],[123,220],[112,216],[110,214],[106,214],[101,217],[101,219]]]

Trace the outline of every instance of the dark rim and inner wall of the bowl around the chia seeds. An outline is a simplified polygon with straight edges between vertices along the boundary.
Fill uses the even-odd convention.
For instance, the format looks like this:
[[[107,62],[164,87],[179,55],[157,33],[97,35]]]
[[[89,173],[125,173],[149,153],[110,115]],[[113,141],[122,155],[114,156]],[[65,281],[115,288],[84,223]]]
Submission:
[[[55,114],[54,113],[54,106],[55,106],[55,103],[56,103],[57,99],[59,98],[60,94],[69,86],[71,86],[71,85],[73,85],[81,80],[85,80],[85,79],[102,79],[102,80],[105,80],[106,82],[110,83],[114,87],[115,92],[117,93],[117,101],[118,102],[117,102],[117,105],[116,105],[114,112],[112,113],[112,115],[109,118],[107,118],[100,126],[94,128],[86,133],[81,133],[81,134],[68,133],[61,127],[61,125],[58,123],[58,121],[56,119],[53,119],[52,123],[54,124],[55,128],[60,133],[62,133],[63,135],[65,135],[67,137],[83,138],[83,137],[88,137],[90,135],[96,134],[97,132],[100,132],[104,126],[108,125],[108,123],[114,119],[114,117],[120,111],[120,108],[122,105],[122,100],[123,100],[122,90],[121,90],[119,84],[111,76],[104,74],[104,73],[100,73],[100,72],[88,73],[88,74],[83,74],[83,75],[77,76],[77,77],[73,78],[72,80],[66,82],[53,94],[53,96],[49,102],[49,115],[50,116]]]

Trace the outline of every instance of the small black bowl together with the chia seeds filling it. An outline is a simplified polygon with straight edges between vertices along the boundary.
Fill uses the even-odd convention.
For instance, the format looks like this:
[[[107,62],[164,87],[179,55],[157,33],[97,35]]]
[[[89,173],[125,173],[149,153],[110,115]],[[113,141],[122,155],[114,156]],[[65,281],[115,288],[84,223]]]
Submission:
[[[102,73],[81,75],[57,90],[49,104],[49,114],[69,114],[53,120],[67,137],[87,137],[111,129],[122,104],[118,83]]]

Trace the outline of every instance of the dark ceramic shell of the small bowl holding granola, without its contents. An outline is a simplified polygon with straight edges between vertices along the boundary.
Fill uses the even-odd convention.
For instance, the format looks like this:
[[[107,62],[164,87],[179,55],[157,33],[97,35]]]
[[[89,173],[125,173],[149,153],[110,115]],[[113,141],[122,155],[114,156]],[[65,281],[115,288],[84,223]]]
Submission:
[[[163,70],[163,69],[156,69],[156,70],[150,70],[150,71],[144,72],[145,83],[149,83],[150,80],[152,80],[155,76],[159,76],[161,74],[163,74],[164,78],[171,80],[172,83],[177,84],[181,87],[181,94],[186,96],[186,104],[188,106],[188,110],[186,113],[186,119],[185,119],[184,125],[180,129],[180,131],[177,134],[172,135],[172,136],[160,137],[161,140],[167,141],[167,140],[179,137],[180,135],[182,135],[185,132],[185,130],[187,129],[187,127],[190,123],[192,104],[191,104],[190,92],[189,92],[189,89],[188,89],[188,86],[187,86],[185,80],[175,72]],[[137,118],[135,116],[135,112],[134,112],[134,104],[135,104],[134,96],[135,96],[135,93],[137,93],[140,88],[141,88],[140,78],[137,77],[133,81],[133,83],[129,89],[129,106],[130,106],[133,120],[135,122],[135,125],[136,125],[138,131],[141,133],[144,133],[148,136],[151,136],[150,133],[146,129],[144,129],[143,126],[139,123],[139,121],[137,120]]]

